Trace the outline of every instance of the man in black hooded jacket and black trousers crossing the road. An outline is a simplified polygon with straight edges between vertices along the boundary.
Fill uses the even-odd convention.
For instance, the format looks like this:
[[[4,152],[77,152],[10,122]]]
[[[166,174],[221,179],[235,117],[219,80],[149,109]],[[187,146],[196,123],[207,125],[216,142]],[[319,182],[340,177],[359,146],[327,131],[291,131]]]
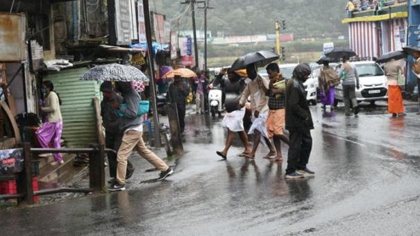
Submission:
[[[286,178],[313,176],[308,164],[312,150],[310,130],[314,128],[309,104],[303,83],[311,73],[308,64],[299,64],[286,87],[286,129],[289,130],[289,153],[287,157]]]

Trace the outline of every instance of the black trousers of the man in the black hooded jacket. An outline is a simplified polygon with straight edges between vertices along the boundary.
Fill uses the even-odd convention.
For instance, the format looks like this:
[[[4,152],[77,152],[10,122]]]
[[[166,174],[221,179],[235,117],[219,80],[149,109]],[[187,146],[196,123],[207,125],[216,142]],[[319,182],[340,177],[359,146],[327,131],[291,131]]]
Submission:
[[[310,130],[290,131],[289,142],[286,174],[306,168],[312,150]]]

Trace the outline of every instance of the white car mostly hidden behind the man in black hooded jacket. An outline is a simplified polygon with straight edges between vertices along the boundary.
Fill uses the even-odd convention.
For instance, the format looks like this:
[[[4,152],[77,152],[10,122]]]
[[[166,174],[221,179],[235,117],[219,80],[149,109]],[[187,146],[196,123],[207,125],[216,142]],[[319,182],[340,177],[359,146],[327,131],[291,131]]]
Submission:
[[[293,70],[294,67],[296,67],[298,64],[280,64],[278,67],[280,67],[280,71],[283,74],[283,77],[288,80],[289,78],[292,78],[293,76]],[[258,71],[258,74],[260,76],[263,76],[264,78],[269,78],[267,71],[265,69],[261,69]],[[308,80],[303,83],[303,86],[305,87],[306,91],[306,99],[310,102],[312,105],[317,105],[317,87],[315,86],[315,81],[312,76],[308,78]]]

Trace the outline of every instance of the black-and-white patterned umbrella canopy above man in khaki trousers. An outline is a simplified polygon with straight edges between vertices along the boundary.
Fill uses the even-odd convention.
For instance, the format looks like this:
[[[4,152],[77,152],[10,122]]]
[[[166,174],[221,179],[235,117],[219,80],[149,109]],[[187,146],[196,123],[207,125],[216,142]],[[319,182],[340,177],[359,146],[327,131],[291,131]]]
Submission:
[[[93,67],[83,74],[81,79],[82,81],[149,81],[140,69],[116,63]]]

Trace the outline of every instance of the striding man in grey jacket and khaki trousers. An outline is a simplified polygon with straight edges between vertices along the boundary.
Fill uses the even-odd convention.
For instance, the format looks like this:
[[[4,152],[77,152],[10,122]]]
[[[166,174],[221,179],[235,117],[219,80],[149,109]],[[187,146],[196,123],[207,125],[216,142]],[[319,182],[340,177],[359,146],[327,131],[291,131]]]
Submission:
[[[155,153],[150,151],[143,141],[143,118],[138,116],[140,96],[131,87],[131,83],[117,82],[115,84],[117,91],[121,92],[123,103],[120,105],[115,101],[112,105],[121,112],[122,117],[119,121],[119,130],[122,130],[123,137],[121,146],[119,146],[117,153],[117,182],[108,187],[109,191],[121,191],[126,189],[126,169],[127,160],[130,157],[133,149],[151,163],[156,169],[160,171],[160,176],[157,180],[163,180],[170,174],[174,173],[171,167],[160,159]],[[124,106],[123,106],[124,105]]]

